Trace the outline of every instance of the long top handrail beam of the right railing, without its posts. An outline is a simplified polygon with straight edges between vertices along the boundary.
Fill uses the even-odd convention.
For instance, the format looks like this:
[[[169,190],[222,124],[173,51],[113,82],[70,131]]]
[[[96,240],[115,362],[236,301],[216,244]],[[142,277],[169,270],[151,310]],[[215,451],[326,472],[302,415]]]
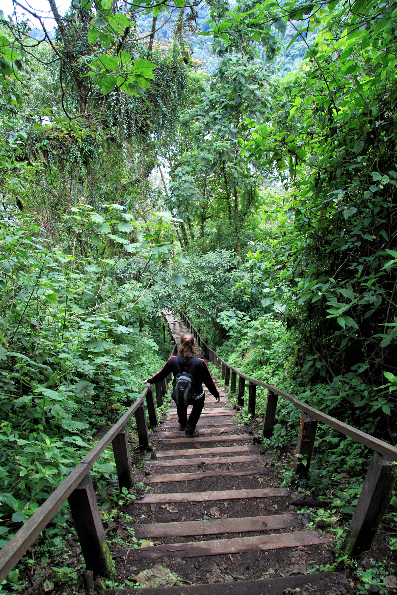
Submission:
[[[235,372],[235,374],[237,374],[238,377],[244,378],[244,380],[248,380],[249,382],[252,382],[257,386],[262,386],[263,388],[268,389],[272,394],[277,394],[278,396],[287,399],[297,409],[300,409],[300,411],[303,411],[311,417],[316,418],[319,421],[322,421],[324,424],[327,424],[331,428],[334,428],[334,430],[337,430],[342,434],[345,434],[346,436],[349,436],[357,440],[359,443],[364,444],[364,446],[368,446],[368,448],[371,448],[376,452],[380,452],[382,453],[382,455],[388,456],[390,459],[392,459],[392,461],[397,461],[397,448],[395,446],[392,446],[392,444],[387,444],[387,442],[370,436],[370,434],[362,432],[361,430],[357,430],[357,428],[354,428],[352,425],[345,424],[343,421],[339,421],[339,419],[331,417],[331,415],[323,413],[319,409],[315,409],[310,405],[306,405],[306,403],[303,403],[291,394],[284,392],[284,390],[277,389],[277,387],[262,382],[261,380],[256,380],[256,378],[250,378],[246,374],[243,374],[243,372],[240,372],[240,370],[238,370],[237,368],[234,368],[233,366],[225,362],[224,359],[222,359],[213,349],[210,349],[207,346],[207,344],[203,341],[203,339],[201,339],[200,333],[198,333],[197,329],[194,328],[193,324],[191,324],[190,320],[187,318],[184,312],[181,312],[181,314],[182,317],[184,317],[185,320],[188,322],[188,324],[190,324],[194,332],[197,333],[197,336],[200,337],[200,342],[207,347],[207,350],[211,351],[215,355],[216,359],[218,359],[219,362],[221,362],[221,364],[224,364],[225,367]]]

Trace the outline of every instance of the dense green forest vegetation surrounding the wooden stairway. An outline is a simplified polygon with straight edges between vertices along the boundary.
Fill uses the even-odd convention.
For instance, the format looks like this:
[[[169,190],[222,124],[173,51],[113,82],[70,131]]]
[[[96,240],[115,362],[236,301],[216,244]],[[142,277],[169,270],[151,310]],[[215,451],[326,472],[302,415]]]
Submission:
[[[55,39],[0,13],[1,544],[161,367],[163,308],[395,444],[397,5],[48,10]],[[265,446],[282,450],[295,417]],[[301,488],[328,494],[340,537],[368,452],[321,441],[333,450]],[[111,456],[97,469],[103,504]],[[71,532],[64,507],[37,556]],[[5,589],[25,589],[18,572]]]

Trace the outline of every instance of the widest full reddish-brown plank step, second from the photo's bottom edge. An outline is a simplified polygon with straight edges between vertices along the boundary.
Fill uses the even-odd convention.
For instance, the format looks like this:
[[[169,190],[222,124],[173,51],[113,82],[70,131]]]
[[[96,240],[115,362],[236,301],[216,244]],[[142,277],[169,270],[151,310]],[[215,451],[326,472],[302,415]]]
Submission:
[[[221,554],[238,554],[252,550],[276,550],[284,547],[312,546],[324,544],[327,538],[318,531],[296,531],[295,533],[273,533],[258,537],[234,537],[209,541],[191,541],[187,543],[169,543],[165,546],[139,547],[132,550],[134,555],[156,559],[160,556],[173,558],[196,558],[197,556],[219,556]],[[117,556],[126,556],[123,549]]]

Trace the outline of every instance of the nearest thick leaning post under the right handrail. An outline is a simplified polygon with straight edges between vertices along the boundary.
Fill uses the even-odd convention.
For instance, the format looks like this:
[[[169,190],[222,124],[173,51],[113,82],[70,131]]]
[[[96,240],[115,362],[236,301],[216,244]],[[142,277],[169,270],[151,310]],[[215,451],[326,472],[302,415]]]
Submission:
[[[371,549],[380,522],[389,507],[396,479],[397,462],[374,452],[349,533],[342,546],[345,555],[358,556]]]

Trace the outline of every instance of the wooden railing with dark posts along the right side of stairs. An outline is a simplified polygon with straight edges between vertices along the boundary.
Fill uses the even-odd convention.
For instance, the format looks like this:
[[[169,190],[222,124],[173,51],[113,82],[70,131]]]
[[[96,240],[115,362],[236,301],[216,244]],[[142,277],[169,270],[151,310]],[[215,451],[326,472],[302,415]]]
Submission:
[[[357,428],[345,424],[339,421],[339,419],[331,417],[331,415],[325,414],[310,405],[306,405],[306,403],[303,403],[283,390],[243,374],[243,372],[229,365],[207,346],[203,339],[201,339],[200,333],[194,328],[184,312],[181,312],[181,317],[191,334],[196,337],[197,344],[201,352],[204,353],[204,356],[208,361],[213,362],[213,364],[222,369],[222,379],[225,380],[225,386],[229,386],[230,384],[231,393],[235,393],[237,390],[238,406],[244,405],[245,382],[246,380],[248,381],[247,409],[253,418],[255,418],[256,411],[256,387],[261,386],[267,389],[265,414],[263,416],[263,437],[269,438],[272,435],[279,396],[292,403],[297,409],[300,409],[300,427],[294,459],[294,471],[296,474],[308,475],[311,457],[314,452],[314,440],[318,421],[327,424],[331,428],[334,428],[334,430],[351,437],[374,451],[349,527],[348,536],[345,538],[342,546],[342,549],[348,556],[356,556],[361,552],[370,550],[373,538],[392,498],[393,488],[397,479],[397,448],[392,444],[370,436],[370,434],[357,430]]]

